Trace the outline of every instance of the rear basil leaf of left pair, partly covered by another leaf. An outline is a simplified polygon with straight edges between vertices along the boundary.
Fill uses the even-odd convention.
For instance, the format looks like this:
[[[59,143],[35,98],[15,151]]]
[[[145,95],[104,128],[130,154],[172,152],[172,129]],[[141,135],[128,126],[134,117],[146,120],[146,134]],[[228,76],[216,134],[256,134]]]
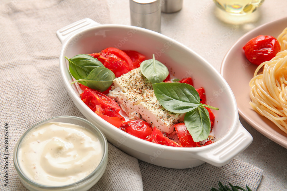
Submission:
[[[65,58],[69,61],[69,70],[71,75],[76,79],[84,79],[97,67],[104,67],[102,62],[88,54],[78,54],[73,58]],[[85,81],[81,84],[87,86]]]

